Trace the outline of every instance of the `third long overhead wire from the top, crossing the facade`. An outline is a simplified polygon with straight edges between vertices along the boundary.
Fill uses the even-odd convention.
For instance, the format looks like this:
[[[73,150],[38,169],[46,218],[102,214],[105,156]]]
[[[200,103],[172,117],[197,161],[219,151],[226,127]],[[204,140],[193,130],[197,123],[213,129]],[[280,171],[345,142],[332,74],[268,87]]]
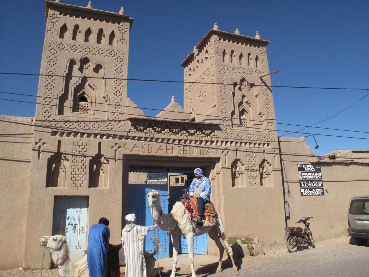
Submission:
[[[30,103],[30,104],[39,104],[37,102],[30,102],[30,101],[23,101],[23,100],[15,100],[15,99],[6,99],[6,98],[0,98],[0,100],[6,100],[6,101],[12,101],[12,102],[21,102],[21,103]],[[56,106],[58,107],[58,105],[55,104],[47,104],[47,103],[42,103],[42,105],[47,105],[47,106]],[[67,108],[73,108],[70,106],[65,106]],[[88,110],[94,110],[97,112],[106,112],[106,113],[117,113],[117,114],[124,114],[124,115],[132,115],[132,116],[138,116],[137,114],[131,114],[131,113],[122,113],[122,112],[113,112],[113,111],[104,111],[104,110],[96,110],[96,109],[88,109]],[[173,121],[172,118],[167,118],[167,117],[155,117],[155,116],[146,116],[146,117],[150,117],[150,118],[154,118],[154,119],[166,119],[166,120],[170,120]],[[144,117],[145,118],[145,117]],[[56,120],[54,120],[55,122]],[[207,122],[201,122],[201,121],[191,121],[191,120],[183,120],[183,119],[176,119],[176,121],[178,122],[186,122],[186,123],[196,123],[196,124],[203,124],[203,125],[219,125],[219,126],[228,126],[228,127],[232,127],[231,124],[222,124],[222,123],[207,123]],[[278,132],[291,132],[291,131],[286,131],[286,130],[277,130],[277,129],[267,129],[267,128],[258,128],[258,127],[248,127],[248,126],[241,126],[241,125],[237,125],[237,127],[241,127],[241,128],[248,128],[248,129],[253,129],[253,130],[267,130],[267,131],[278,131]],[[305,134],[313,134],[313,133],[305,133]],[[341,138],[356,138],[356,139],[363,139],[363,140],[369,140],[369,138],[364,138],[364,137],[350,137],[350,136],[338,136],[338,135],[329,135],[329,134],[318,134],[318,133],[314,133],[315,136],[328,136],[328,137],[341,137]]]

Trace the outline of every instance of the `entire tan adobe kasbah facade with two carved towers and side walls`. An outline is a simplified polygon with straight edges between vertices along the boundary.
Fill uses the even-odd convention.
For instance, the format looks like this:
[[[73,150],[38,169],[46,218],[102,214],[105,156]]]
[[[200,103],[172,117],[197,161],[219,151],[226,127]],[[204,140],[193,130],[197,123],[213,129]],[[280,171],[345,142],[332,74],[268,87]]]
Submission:
[[[369,194],[369,151],[320,160],[304,137],[277,137],[269,41],[215,24],[181,64],[184,81],[198,82],[184,83],[184,108],[172,98],[153,119],[127,98],[133,18],[123,8],[45,3],[40,73],[64,77],[39,78],[34,118],[0,119],[1,268],[39,268],[39,238],[58,233],[78,259],[102,216],[119,244],[127,213],[152,224],[148,190],[162,192],[168,212],[195,167],[211,179],[228,236],[280,244],[286,225],[303,216],[314,217],[315,240],[347,232],[349,199]],[[321,170],[324,195],[301,195],[298,164]],[[159,238],[169,256],[168,234]],[[196,243],[197,253],[217,254],[206,236]]]

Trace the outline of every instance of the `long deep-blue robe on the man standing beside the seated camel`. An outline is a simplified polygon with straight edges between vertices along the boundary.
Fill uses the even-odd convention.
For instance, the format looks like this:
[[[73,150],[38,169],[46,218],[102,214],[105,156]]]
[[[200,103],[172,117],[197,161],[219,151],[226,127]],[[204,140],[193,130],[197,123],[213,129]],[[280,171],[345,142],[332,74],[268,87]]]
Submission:
[[[105,224],[94,224],[89,230],[87,264],[90,277],[105,277],[109,251],[110,230]]]

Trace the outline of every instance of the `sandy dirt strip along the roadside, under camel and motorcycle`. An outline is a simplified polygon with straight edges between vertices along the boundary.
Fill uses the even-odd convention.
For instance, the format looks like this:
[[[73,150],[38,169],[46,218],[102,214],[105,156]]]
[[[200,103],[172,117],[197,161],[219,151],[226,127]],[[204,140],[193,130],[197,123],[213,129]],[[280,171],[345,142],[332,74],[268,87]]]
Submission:
[[[345,249],[346,247],[350,247],[352,243],[350,243],[350,237],[340,236],[333,239],[327,239],[322,241],[315,241],[316,248],[313,249],[311,247],[304,249],[302,252],[311,252],[311,251],[317,251],[323,250],[325,248],[335,248],[338,251],[342,248]],[[369,244],[369,243],[368,243]],[[236,261],[236,263],[242,263],[242,264],[258,264],[258,266],[262,266],[262,264],[274,260],[274,259],[285,259],[286,261],[290,259],[290,253],[287,252],[286,246],[284,244],[280,244],[278,246],[264,249],[265,255],[259,255],[256,257],[245,257],[244,259],[240,259],[239,261]],[[223,259],[223,273],[225,275],[229,276],[232,275],[232,264],[230,259],[226,260],[226,256],[224,255]],[[303,259],[303,256],[300,257]],[[159,266],[161,268],[162,277],[169,276],[172,271],[172,258],[168,259],[159,259]],[[195,270],[196,273],[199,276],[202,276],[204,274],[208,275],[215,273],[215,270],[217,268],[218,264],[218,257],[217,256],[211,256],[211,255],[195,255]],[[228,272],[229,271],[229,272]],[[183,276],[189,276],[191,273],[189,262],[188,262],[188,255],[187,254],[181,254],[179,255],[179,260],[177,264],[177,270],[176,275],[183,275]],[[223,274],[221,274],[223,275]],[[36,277],[41,276],[41,270],[39,269],[11,269],[11,270],[0,270],[0,276],[11,276],[11,277],[20,277],[20,276],[30,276],[30,277]],[[45,277],[56,277],[59,276],[58,271],[51,269],[51,270],[44,270],[42,273],[42,276]]]

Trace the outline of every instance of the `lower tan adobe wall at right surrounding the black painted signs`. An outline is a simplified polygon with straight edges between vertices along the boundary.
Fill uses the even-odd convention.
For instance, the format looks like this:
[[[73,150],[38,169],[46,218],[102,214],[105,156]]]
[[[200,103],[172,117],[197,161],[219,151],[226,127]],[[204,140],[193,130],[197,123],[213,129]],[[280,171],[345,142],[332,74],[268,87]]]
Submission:
[[[336,150],[323,155],[326,157],[324,160],[318,160],[317,157],[287,154],[314,155],[311,148],[306,146],[304,137],[280,137],[280,147],[281,152],[286,153],[282,155],[282,160],[285,198],[290,206],[288,226],[297,225],[294,222],[303,216],[313,216],[309,222],[314,239],[347,234],[350,199],[356,195],[369,194],[369,151]],[[328,156],[337,158],[330,160]],[[320,165],[324,195],[301,195],[298,164]]]

